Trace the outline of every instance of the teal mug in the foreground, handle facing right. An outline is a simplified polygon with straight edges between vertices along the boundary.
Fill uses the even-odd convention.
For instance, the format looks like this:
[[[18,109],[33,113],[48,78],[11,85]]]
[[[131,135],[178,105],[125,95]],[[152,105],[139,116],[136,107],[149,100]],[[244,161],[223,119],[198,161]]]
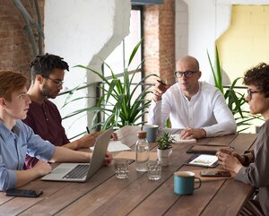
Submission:
[[[195,187],[195,178],[199,185]],[[178,171],[174,173],[174,192],[178,195],[190,195],[201,186],[201,179],[194,172]]]

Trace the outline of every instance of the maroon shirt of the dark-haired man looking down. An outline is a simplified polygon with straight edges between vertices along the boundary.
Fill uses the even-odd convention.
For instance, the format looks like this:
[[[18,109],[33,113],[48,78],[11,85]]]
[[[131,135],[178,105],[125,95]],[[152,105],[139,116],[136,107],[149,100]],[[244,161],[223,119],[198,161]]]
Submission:
[[[42,104],[31,101],[27,117],[23,122],[29,125],[34,133],[39,134],[43,140],[48,140],[56,146],[70,143],[66,137],[59,110],[48,99],[45,99]],[[32,168],[38,161],[38,159],[27,155],[25,168]]]

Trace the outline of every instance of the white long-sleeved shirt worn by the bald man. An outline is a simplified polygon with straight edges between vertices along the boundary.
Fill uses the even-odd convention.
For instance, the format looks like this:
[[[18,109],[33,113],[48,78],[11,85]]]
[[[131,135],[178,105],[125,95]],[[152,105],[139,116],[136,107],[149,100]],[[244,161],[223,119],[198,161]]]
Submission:
[[[172,128],[203,128],[207,137],[233,134],[237,129],[221,91],[206,82],[199,82],[199,91],[190,100],[178,82],[162,95],[160,101],[152,99],[148,123],[164,127],[168,117]]]

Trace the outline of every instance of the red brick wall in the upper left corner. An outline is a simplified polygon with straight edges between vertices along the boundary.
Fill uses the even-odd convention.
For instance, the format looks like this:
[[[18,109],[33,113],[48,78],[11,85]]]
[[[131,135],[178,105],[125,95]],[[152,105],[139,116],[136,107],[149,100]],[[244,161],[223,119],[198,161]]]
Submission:
[[[26,0],[22,0],[23,5]],[[39,1],[44,12],[44,2]],[[22,14],[11,0],[0,0],[0,69],[21,71],[30,79],[28,65],[33,58],[30,42],[24,30]]]

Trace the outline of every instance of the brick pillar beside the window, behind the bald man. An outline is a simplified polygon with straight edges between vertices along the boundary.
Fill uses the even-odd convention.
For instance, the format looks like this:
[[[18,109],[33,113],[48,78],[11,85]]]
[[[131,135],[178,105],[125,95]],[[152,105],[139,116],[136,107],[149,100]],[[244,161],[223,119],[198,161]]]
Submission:
[[[144,72],[156,73],[168,83],[174,83],[175,0],[163,2],[144,9]]]

